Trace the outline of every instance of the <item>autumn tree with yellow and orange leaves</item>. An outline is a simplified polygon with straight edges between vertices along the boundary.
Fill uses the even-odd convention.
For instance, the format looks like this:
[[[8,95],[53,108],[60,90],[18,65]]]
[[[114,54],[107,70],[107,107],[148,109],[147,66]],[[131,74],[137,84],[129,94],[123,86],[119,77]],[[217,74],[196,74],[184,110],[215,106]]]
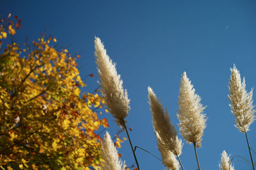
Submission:
[[[81,93],[86,85],[77,70],[80,56],[54,48],[51,36],[19,45],[13,36],[20,26],[16,16],[1,19],[0,167],[97,169],[96,130],[108,122],[93,109],[104,100],[97,93]]]

